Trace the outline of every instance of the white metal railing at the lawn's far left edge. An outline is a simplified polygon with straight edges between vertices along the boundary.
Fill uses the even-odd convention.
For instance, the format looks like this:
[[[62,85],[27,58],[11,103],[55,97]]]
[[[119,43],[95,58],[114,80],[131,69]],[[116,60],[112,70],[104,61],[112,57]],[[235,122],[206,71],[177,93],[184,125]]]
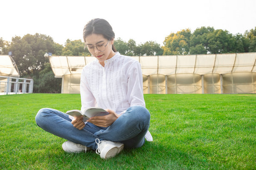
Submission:
[[[13,81],[13,79],[15,80]],[[33,79],[0,76],[0,93],[3,93],[3,94],[33,93],[33,84],[34,84]],[[20,85],[22,85],[21,88],[20,88]]]

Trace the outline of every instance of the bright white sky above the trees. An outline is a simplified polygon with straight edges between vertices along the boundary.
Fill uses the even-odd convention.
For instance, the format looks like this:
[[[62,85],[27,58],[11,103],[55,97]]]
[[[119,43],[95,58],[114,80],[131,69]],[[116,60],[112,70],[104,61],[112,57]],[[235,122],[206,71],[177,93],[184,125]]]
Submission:
[[[116,38],[163,45],[170,33],[202,26],[244,34],[256,27],[256,0],[1,0],[0,37],[46,34],[82,40],[87,21],[103,18]]]

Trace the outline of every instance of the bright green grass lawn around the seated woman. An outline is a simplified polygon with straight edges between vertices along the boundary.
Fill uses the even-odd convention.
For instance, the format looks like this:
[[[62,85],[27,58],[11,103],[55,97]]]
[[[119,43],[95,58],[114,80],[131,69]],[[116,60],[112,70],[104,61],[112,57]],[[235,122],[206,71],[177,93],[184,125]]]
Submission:
[[[0,96],[0,169],[256,169],[255,94],[146,94],[154,141],[103,160],[65,153],[35,124],[40,108],[80,109],[79,94]]]

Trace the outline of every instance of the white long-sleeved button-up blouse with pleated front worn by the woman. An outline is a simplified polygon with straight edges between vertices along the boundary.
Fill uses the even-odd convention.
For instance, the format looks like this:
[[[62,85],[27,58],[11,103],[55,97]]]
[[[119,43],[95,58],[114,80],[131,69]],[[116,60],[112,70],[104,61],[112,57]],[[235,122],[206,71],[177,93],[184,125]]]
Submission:
[[[122,114],[134,105],[145,107],[140,62],[119,52],[105,61],[105,67],[97,59],[90,62],[81,73],[80,94],[81,111],[99,107]],[[149,132],[147,138],[152,138]]]

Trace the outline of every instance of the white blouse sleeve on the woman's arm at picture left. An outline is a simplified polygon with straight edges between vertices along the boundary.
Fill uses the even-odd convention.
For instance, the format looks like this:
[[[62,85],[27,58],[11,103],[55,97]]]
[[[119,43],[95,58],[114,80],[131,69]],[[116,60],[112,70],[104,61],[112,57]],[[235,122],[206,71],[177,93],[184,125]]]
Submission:
[[[81,111],[83,112],[86,108],[95,107],[96,99],[90,91],[90,87],[87,83],[84,69],[81,73],[80,79],[80,95],[81,95]]]

